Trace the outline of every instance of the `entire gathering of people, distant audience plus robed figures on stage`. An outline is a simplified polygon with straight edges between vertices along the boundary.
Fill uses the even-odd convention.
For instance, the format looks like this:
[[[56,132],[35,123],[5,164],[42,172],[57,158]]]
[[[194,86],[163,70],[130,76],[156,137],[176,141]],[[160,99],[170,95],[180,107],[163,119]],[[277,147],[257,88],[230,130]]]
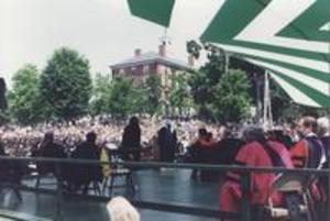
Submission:
[[[153,159],[160,162],[240,165],[254,167],[328,168],[329,121],[305,117],[292,126],[264,131],[255,125],[211,125],[200,121],[158,121],[131,118],[116,121],[107,118],[84,118],[75,122],[35,128],[0,128],[1,155],[42,156],[100,159],[102,150],[120,150],[124,161]],[[40,163],[44,172],[52,165]],[[67,174],[66,174],[67,173]],[[85,188],[90,180],[100,179],[100,166],[63,169],[69,189]],[[75,174],[76,176],[72,176]],[[194,170],[191,177],[210,179],[219,174]],[[241,175],[222,174],[219,207],[222,211],[240,211],[242,202]],[[74,177],[74,180],[73,180]],[[89,178],[87,178],[89,177]],[[272,192],[275,173],[251,176],[250,201],[253,209],[272,198],[274,205],[285,203],[286,196]],[[318,178],[311,184],[319,213],[327,202],[328,184]],[[257,214],[257,212],[254,212]],[[300,219],[300,218],[297,218]],[[255,218],[254,220],[257,220]]]

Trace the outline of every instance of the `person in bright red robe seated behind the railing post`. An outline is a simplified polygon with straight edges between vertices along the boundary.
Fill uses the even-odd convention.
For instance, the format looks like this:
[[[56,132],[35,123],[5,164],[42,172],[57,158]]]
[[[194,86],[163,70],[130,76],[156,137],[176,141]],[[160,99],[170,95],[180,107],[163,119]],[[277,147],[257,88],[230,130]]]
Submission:
[[[278,142],[267,141],[262,129],[248,129],[244,132],[244,139],[246,144],[235,156],[235,164],[252,167],[293,167],[287,148]],[[252,208],[265,205],[275,178],[274,173],[251,173],[250,203]],[[229,172],[220,189],[219,208],[221,211],[239,212],[242,209],[241,206],[241,175]]]

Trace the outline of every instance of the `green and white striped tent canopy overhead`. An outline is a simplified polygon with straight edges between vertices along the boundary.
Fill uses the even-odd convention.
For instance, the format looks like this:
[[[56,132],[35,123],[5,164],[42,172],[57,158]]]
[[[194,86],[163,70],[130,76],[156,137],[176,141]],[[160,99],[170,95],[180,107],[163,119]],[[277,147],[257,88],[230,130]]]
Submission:
[[[132,14],[170,27],[184,0],[128,1]],[[268,69],[295,102],[330,107],[330,0],[198,1],[213,9],[202,42]]]

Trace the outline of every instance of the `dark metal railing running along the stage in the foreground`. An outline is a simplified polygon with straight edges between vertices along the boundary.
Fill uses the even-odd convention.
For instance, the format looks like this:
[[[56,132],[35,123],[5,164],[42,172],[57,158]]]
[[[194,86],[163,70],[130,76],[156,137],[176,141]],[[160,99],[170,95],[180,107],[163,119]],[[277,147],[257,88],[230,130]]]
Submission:
[[[0,157],[0,162],[14,162],[14,163],[53,163],[56,165],[57,170],[59,170],[61,166],[65,164],[77,164],[77,165],[113,165],[113,163],[109,162],[100,162],[100,161],[87,161],[87,159],[58,159],[58,158],[11,158],[11,157]],[[278,167],[242,167],[242,166],[219,166],[219,165],[205,165],[205,164],[172,164],[172,163],[146,163],[146,162],[122,162],[114,163],[116,165],[125,166],[130,168],[176,168],[176,169],[206,169],[206,170],[215,170],[215,172],[235,172],[242,175],[241,187],[242,187],[242,212],[241,213],[229,213],[221,212],[218,210],[205,209],[205,208],[196,208],[196,207],[187,207],[183,205],[167,205],[167,203],[157,203],[157,202],[148,202],[142,200],[132,200],[132,203],[141,209],[150,209],[157,211],[167,211],[167,212],[178,212],[185,214],[193,216],[201,216],[201,217],[211,217],[211,218],[221,218],[221,219],[241,219],[243,221],[252,221],[251,218],[251,205],[249,201],[250,197],[250,180],[251,173],[276,173],[276,174],[299,174],[299,175],[315,175],[315,176],[327,176],[330,180],[330,169],[311,169],[311,168],[299,168],[299,169],[286,169]],[[46,194],[56,196],[56,211],[54,220],[59,221],[63,220],[62,214],[62,200],[64,191],[62,189],[62,180],[61,177],[57,178],[57,188],[56,190],[50,189],[35,189],[32,187],[21,186],[21,185],[12,185],[12,184],[2,184],[2,186],[7,186],[10,188],[18,188],[21,190]],[[328,189],[330,189],[330,181],[328,183]],[[329,194],[329,191],[328,191]],[[96,201],[109,201],[107,197],[99,196],[82,196],[75,194],[65,194],[74,198],[81,198],[86,200],[96,200]],[[328,196],[330,199],[330,195]],[[330,205],[328,205],[328,211],[330,211]],[[327,220],[330,220],[330,214],[328,214]]]

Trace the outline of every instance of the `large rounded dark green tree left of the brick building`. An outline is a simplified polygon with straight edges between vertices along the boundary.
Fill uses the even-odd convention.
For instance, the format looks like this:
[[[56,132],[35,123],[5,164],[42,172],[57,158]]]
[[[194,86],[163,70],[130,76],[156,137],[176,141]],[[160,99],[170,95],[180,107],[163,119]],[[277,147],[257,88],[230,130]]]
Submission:
[[[56,49],[41,75],[41,92],[58,118],[87,113],[91,93],[88,59],[69,48]]]

